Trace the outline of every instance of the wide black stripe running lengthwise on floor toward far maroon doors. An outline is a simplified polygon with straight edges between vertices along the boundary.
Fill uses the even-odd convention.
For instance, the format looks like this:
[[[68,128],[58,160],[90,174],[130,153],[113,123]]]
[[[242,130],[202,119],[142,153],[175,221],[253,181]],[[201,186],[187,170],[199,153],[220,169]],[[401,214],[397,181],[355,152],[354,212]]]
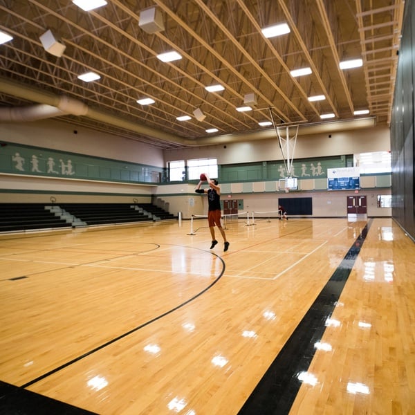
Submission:
[[[285,415],[290,412],[302,384],[298,375],[308,371],[315,353],[314,344],[322,338],[326,320],[333,313],[370,225],[371,221],[362,230],[329,282],[252,391],[239,415]]]

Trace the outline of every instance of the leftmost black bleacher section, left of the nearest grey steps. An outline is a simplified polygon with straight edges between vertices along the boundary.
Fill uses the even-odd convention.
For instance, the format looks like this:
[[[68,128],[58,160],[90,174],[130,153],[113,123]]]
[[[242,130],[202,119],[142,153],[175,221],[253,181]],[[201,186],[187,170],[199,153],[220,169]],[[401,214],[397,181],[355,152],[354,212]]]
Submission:
[[[71,227],[43,203],[0,203],[0,232]]]

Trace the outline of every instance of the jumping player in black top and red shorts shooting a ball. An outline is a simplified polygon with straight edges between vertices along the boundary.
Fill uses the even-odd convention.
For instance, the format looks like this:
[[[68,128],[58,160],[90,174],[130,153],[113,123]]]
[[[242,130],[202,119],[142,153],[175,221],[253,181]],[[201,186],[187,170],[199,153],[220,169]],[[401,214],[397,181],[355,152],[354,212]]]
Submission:
[[[199,181],[195,192],[208,194],[208,223],[210,234],[212,236],[212,245],[210,246],[210,249],[213,249],[216,243],[218,243],[214,237],[214,225],[216,225],[223,237],[223,251],[226,252],[229,248],[229,242],[226,240],[225,230],[223,230],[221,224],[221,187],[218,186],[219,182],[217,180],[210,180],[207,174],[205,174],[205,177],[206,181],[208,181],[209,189],[201,189],[203,181]]]

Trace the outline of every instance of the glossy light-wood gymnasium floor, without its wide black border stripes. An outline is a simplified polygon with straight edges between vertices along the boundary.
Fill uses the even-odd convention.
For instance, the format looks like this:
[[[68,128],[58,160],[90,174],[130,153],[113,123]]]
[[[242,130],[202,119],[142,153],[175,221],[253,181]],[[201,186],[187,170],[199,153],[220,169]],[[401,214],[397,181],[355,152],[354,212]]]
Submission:
[[[347,219],[227,221],[228,252],[205,219],[0,235],[0,381],[102,415],[238,414],[349,264],[289,413],[415,414],[415,244],[369,222],[353,260]]]

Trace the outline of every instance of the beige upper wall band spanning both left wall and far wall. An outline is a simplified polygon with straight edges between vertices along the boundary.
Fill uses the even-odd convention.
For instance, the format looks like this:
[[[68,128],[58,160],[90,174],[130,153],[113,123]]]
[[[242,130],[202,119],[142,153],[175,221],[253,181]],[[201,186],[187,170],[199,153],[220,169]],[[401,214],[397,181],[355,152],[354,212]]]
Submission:
[[[74,131],[77,131],[75,134]],[[293,134],[295,133],[293,129]],[[291,132],[290,132],[291,134]],[[0,123],[0,140],[19,144],[70,151],[89,156],[124,160],[156,167],[165,167],[171,160],[214,157],[219,165],[282,160],[277,138],[229,142],[223,145],[162,150],[141,142],[118,138],[108,133],[91,131],[57,120],[27,123]],[[311,158],[358,154],[368,151],[389,151],[388,127],[336,131],[298,136],[294,158]]]

